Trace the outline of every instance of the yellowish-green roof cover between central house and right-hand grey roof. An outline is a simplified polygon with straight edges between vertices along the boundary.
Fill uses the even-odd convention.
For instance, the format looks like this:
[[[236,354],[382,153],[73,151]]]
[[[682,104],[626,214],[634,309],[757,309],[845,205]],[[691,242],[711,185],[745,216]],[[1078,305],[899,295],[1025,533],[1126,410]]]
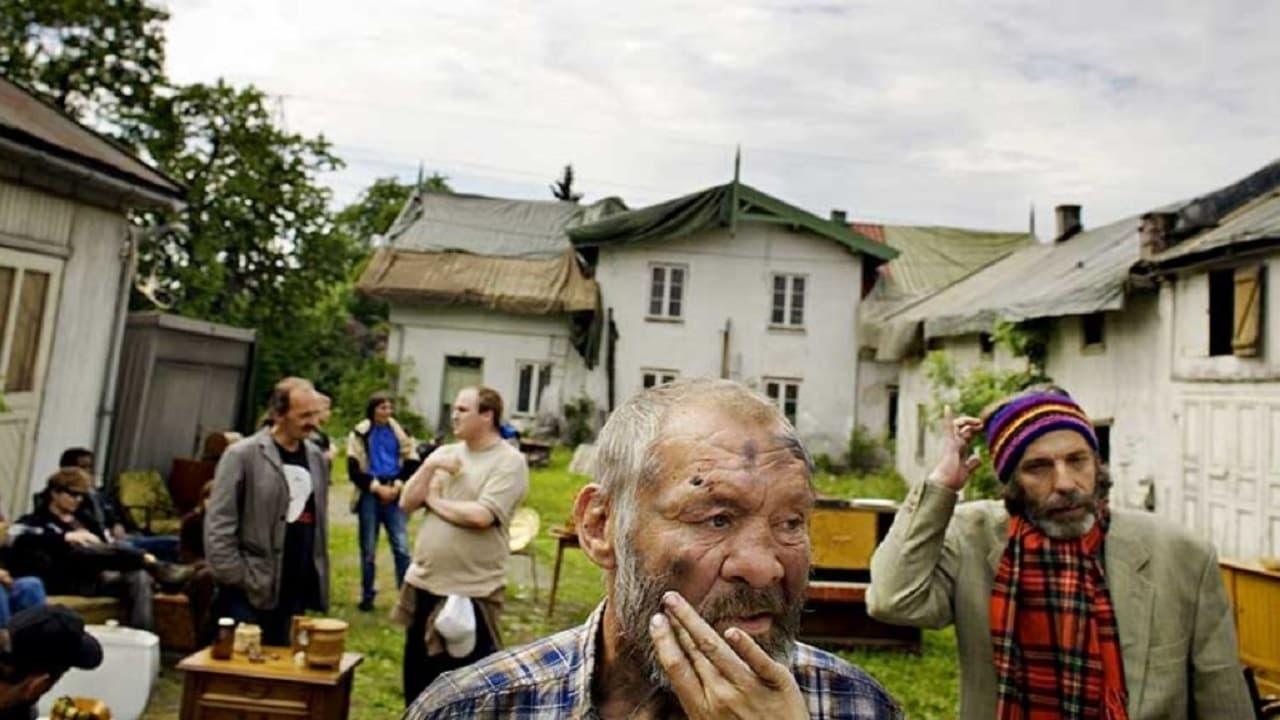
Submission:
[[[1034,236],[1019,232],[867,223],[854,228],[900,252],[881,268],[876,288],[858,305],[858,337],[867,347],[879,345],[884,318],[1036,243]]]

